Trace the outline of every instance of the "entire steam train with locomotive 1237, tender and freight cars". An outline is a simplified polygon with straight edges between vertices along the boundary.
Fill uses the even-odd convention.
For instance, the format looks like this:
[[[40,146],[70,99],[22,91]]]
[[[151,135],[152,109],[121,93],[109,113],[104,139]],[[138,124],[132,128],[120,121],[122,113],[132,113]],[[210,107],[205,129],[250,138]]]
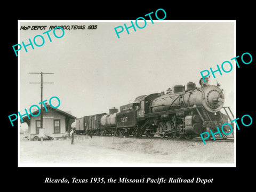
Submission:
[[[85,134],[114,134],[133,135],[141,137],[146,135],[154,137],[185,137],[190,139],[198,137],[203,132],[217,131],[224,123],[231,121],[229,113],[233,116],[230,107],[223,107],[225,101],[224,90],[220,84],[209,85],[209,77],[200,79],[201,87],[189,82],[185,86],[175,85],[173,92],[153,93],[141,95],[132,103],[118,109],[109,109],[109,114],[97,114],[76,119],[82,121],[82,130]],[[224,109],[225,114],[221,113]],[[79,123],[76,123],[79,126]],[[77,127],[78,128],[78,127]],[[230,127],[224,126],[224,131],[229,132]],[[221,133],[222,134],[222,133]],[[226,139],[227,135],[222,134]]]

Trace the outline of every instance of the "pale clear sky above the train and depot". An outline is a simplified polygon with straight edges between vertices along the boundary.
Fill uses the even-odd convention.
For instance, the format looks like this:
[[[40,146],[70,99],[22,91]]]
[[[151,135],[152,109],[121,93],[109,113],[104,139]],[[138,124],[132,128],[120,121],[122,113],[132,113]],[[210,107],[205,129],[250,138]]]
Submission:
[[[134,22],[134,21],[133,21]],[[142,21],[143,22],[143,21]],[[143,29],[135,26],[117,38],[114,28],[131,25],[131,21],[20,21],[22,26],[46,26],[43,30],[20,30],[19,42],[33,42],[36,35],[44,37],[42,46],[22,47],[19,54],[19,111],[41,101],[39,74],[43,75],[43,100],[55,96],[58,107],[71,111],[77,118],[108,113],[112,107],[132,102],[139,95],[161,93],[174,85],[195,82],[199,87],[200,71],[217,69],[224,61],[233,63],[230,73],[215,73],[210,84],[221,84],[225,90],[225,105],[235,111],[235,70],[231,58],[235,55],[234,21],[168,21],[150,20]],[[140,26],[143,23],[140,23]],[[71,29],[71,26],[85,29]],[[97,25],[96,29],[87,29]],[[61,38],[56,38],[50,26],[70,26]],[[119,29],[118,29],[119,30]],[[57,36],[61,30],[55,31]],[[40,37],[36,38],[42,44]],[[230,69],[228,66],[226,70]],[[57,105],[53,101],[53,105]],[[38,105],[39,106],[39,105]]]

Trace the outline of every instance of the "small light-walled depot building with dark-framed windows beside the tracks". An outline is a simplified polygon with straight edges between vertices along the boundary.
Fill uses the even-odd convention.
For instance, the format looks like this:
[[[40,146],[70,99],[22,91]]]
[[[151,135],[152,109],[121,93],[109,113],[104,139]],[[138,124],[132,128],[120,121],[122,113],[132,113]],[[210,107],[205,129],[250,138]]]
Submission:
[[[50,105],[46,104],[45,107],[41,108],[41,114],[43,115],[43,133],[44,137],[51,137],[51,138],[59,138],[66,134],[66,132],[70,132],[71,124],[75,122],[76,117],[67,113],[66,111],[62,111],[58,108],[52,108]],[[33,115],[37,115],[39,113],[38,110],[33,112]],[[41,130],[41,114],[34,117],[31,114],[28,116],[23,117],[23,122],[28,124],[28,133],[29,133],[29,140],[38,140],[42,136]],[[39,131],[40,134],[39,135]]]

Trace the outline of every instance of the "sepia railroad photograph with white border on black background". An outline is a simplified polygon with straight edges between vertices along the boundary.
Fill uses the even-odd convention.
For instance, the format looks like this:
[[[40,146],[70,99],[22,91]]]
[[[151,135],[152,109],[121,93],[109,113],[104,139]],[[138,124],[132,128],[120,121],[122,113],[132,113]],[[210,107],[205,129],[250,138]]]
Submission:
[[[235,26],[20,21],[20,166],[235,166]]]

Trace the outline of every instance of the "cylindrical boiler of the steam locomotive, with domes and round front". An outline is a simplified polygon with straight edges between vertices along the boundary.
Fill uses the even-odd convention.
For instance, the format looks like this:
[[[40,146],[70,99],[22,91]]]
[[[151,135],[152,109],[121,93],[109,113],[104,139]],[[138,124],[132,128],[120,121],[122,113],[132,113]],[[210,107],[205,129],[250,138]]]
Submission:
[[[150,106],[152,113],[194,105],[203,106],[212,113],[218,112],[223,107],[225,100],[223,91],[219,86],[209,85],[209,79],[206,80],[206,83],[202,81],[203,79],[200,81],[201,88],[197,88],[193,82],[187,84],[186,90],[182,85],[175,85],[173,93],[153,100]]]

